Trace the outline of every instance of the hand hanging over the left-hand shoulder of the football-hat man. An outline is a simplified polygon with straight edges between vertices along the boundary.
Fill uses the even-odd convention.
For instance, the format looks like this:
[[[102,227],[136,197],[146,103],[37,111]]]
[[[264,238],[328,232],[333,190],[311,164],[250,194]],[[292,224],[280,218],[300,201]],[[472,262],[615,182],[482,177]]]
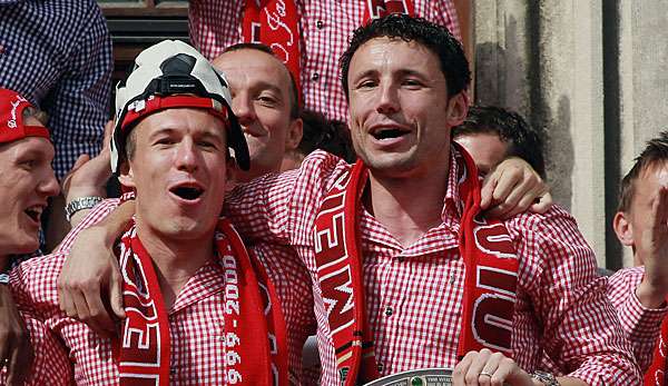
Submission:
[[[60,309],[105,337],[116,335],[117,329],[102,291],[109,294],[114,316],[125,318],[120,268],[112,250],[115,239],[102,226],[81,230],[58,277]]]

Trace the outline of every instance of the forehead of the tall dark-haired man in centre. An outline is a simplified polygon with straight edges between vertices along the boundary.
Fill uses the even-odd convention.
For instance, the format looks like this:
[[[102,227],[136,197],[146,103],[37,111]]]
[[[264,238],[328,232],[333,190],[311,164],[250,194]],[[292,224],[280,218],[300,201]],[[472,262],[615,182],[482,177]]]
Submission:
[[[374,38],[360,46],[350,65],[350,76],[370,70],[422,72],[431,77],[442,77],[436,53],[414,40],[400,38]]]

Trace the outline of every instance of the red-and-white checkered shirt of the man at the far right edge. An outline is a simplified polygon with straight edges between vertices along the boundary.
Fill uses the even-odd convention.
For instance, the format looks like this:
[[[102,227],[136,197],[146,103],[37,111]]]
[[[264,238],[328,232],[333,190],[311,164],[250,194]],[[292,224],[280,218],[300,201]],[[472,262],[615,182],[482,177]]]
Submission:
[[[645,373],[651,364],[654,348],[659,338],[661,321],[668,307],[647,308],[636,296],[636,288],[642,281],[645,267],[620,269],[610,277],[608,297],[621,321],[621,327],[633,345],[638,366]]]

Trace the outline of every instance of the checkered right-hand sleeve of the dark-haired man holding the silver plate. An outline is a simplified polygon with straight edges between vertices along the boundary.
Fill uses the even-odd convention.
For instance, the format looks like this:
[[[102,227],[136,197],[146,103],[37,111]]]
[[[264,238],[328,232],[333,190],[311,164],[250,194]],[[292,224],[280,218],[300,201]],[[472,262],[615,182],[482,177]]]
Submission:
[[[640,373],[607,278],[596,273],[593,251],[564,210],[522,215],[520,275],[542,327],[546,354],[563,374],[589,385],[638,385]],[[523,271],[522,271],[523,270]]]

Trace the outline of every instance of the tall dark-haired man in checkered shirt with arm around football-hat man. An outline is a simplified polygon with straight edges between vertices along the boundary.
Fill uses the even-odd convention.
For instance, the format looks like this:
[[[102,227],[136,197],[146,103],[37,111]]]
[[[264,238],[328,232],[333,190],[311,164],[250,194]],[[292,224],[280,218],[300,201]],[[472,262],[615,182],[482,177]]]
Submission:
[[[226,200],[244,235],[292,244],[316,280],[323,383],[454,367],[458,354],[466,354],[455,382],[528,385],[527,372],[538,369],[544,352],[568,375],[559,378],[563,385],[635,384],[638,372],[615,328],[605,279],[597,279],[592,251],[570,215],[554,208],[483,227],[468,222],[475,209],[465,202],[474,202],[469,195],[477,188],[466,181],[477,179],[464,177],[475,169],[450,151],[450,129],[466,116],[469,70],[452,36],[423,20],[387,17],[354,33],[342,68],[361,161],[353,167],[315,152],[289,178],[242,186]],[[517,250],[514,268],[475,243],[459,244],[462,232],[501,231],[500,225],[508,234],[498,239],[508,244],[485,250],[503,248],[504,258]],[[477,264],[475,256],[487,257]],[[495,327],[468,327],[480,314],[470,307],[500,295],[474,290],[464,267],[515,273],[508,275],[517,275],[517,288],[499,289],[512,294],[502,307],[511,315],[488,315]],[[500,343],[479,340],[508,334],[504,353],[514,362],[491,353]]]

